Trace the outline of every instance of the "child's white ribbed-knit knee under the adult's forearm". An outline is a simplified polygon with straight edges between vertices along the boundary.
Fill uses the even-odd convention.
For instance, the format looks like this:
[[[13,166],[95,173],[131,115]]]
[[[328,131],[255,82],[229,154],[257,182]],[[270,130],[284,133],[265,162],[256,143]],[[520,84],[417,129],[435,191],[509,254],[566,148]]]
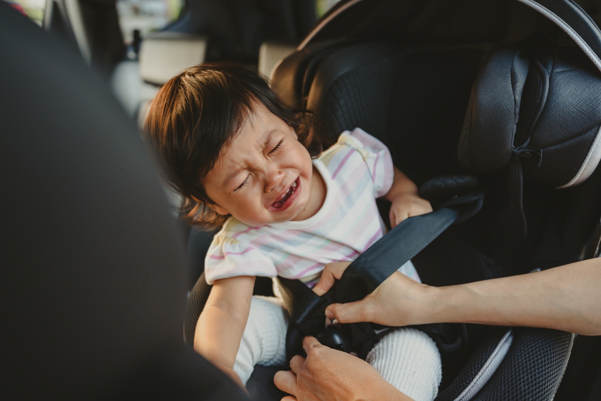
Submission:
[[[432,338],[413,328],[385,335],[365,360],[415,401],[432,401],[442,379],[441,356]]]

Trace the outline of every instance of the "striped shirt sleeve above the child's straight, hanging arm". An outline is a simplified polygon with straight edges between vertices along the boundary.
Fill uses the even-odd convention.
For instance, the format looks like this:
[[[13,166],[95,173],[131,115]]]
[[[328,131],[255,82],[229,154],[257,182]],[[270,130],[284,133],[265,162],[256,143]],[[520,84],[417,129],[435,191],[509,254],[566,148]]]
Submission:
[[[276,277],[272,260],[259,249],[225,234],[216,234],[204,260],[207,283],[237,276]]]

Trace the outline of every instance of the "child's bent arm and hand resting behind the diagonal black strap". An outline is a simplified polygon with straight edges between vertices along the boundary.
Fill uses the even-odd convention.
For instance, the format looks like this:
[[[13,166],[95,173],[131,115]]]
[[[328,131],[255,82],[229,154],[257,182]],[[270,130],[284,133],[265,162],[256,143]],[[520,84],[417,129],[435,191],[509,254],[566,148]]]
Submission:
[[[394,167],[392,186],[384,198],[392,202],[390,207],[391,227],[395,227],[408,217],[432,212],[430,202],[419,197],[415,183],[396,167]]]

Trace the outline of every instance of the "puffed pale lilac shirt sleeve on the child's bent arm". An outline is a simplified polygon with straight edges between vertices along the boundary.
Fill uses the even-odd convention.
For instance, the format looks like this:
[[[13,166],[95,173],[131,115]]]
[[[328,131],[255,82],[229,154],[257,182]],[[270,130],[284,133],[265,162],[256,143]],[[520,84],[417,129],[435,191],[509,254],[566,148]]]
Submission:
[[[343,139],[345,135],[347,140]],[[347,145],[356,148],[363,156],[367,168],[371,173],[371,180],[374,183],[375,197],[380,198],[388,194],[394,177],[394,167],[388,147],[361,128],[355,128],[351,132],[344,132],[341,135],[341,139]]]

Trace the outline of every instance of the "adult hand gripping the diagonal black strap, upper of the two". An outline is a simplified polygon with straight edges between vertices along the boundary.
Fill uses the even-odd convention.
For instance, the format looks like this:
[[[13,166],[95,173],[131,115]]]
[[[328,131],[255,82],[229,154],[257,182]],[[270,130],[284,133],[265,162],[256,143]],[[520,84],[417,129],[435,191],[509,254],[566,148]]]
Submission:
[[[328,263],[313,291],[317,295],[326,293],[349,265],[350,262]],[[432,314],[430,307],[435,298],[434,287],[394,272],[361,301],[329,305],[326,316],[341,323],[374,322],[387,326],[430,323],[426,319]]]

